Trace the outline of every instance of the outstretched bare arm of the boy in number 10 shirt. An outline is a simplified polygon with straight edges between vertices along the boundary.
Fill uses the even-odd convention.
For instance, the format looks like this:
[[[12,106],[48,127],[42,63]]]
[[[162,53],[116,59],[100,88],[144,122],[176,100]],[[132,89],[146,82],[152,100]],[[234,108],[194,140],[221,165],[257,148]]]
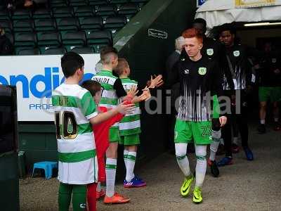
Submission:
[[[113,116],[117,115],[118,113],[122,113],[122,114],[131,113],[134,108],[135,108],[135,106],[131,103],[126,104],[126,105],[125,105],[125,103],[121,103],[116,108],[108,110],[105,113],[100,113],[100,114],[96,115],[96,117],[92,117],[89,121],[91,122],[91,124],[99,124],[100,122],[108,120],[108,119],[110,119],[110,117],[113,117]]]

